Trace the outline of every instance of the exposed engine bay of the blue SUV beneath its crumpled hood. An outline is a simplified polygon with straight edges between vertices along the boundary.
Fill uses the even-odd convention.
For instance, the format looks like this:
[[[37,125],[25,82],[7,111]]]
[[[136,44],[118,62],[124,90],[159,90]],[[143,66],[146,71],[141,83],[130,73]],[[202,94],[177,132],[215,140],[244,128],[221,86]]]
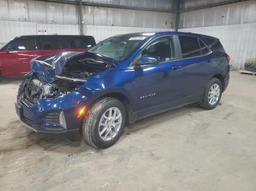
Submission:
[[[89,57],[88,54],[91,55],[92,53],[86,52],[69,59],[61,69],[61,73],[55,75],[51,82],[44,80],[44,77],[40,73],[37,74],[37,72],[31,71],[26,74],[18,90],[18,100],[35,104],[38,99],[58,98],[83,85],[92,74],[116,66],[115,63],[110,63],[99,55],[93,54]],[[34,62],[37,62],[37,60]],[[42,61],[39,63],[41,64]],[[50,66],[53,66],[54,70],[54,65]],[[43,70],[45,67],[49,67],[49,64],[41,67]]]

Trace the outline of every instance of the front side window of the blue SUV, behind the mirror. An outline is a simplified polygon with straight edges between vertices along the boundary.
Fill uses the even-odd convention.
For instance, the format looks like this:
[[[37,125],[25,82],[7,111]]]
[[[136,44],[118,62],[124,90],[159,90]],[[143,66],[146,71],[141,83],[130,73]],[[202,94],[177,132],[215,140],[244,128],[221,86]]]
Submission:
[[[159,58],[159,62],[170,61],[175,58],[173,38],[162,37],[149,44],[142,52],[142,55],[151,55]]]

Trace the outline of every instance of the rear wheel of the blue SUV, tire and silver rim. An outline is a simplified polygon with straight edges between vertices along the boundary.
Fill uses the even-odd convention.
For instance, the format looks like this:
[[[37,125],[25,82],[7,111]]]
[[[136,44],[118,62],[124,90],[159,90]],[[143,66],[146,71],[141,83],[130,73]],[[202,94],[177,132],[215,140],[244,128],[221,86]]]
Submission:
[[[206,86],[206,92],[203,95],[203,100],[200,104],[203,109],[214,109],[222,97],[222,82],[217,78],[213,78]]]

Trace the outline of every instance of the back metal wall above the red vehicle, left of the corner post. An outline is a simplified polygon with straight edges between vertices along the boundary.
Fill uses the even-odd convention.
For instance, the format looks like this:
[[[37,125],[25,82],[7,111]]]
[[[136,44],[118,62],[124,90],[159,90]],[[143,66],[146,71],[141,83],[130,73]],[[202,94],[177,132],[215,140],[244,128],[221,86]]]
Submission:
[[[170,9],[173,6],[169,0],[91,2],[154,9]],[[83,6],[85,34],[94,35],[99,40],[117,34],[116,31],[162,31],[171,30],[173,26],[174,14],[168,12]],[[37,29],[46,29],[47,34],[79,34],[78,6],[45,1],[0,0],[0,44],[14,36],[37,34]]]

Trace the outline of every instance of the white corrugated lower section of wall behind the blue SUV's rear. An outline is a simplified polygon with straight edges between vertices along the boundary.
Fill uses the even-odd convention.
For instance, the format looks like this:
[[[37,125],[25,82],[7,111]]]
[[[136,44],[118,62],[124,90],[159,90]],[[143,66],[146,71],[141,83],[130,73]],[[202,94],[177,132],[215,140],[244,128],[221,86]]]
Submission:
[[[243,25],[184,28],[179,31],[206,34],[220,39],[230,55],[233,69],[244,69],[244,61],[256,58],[256,23]]]

